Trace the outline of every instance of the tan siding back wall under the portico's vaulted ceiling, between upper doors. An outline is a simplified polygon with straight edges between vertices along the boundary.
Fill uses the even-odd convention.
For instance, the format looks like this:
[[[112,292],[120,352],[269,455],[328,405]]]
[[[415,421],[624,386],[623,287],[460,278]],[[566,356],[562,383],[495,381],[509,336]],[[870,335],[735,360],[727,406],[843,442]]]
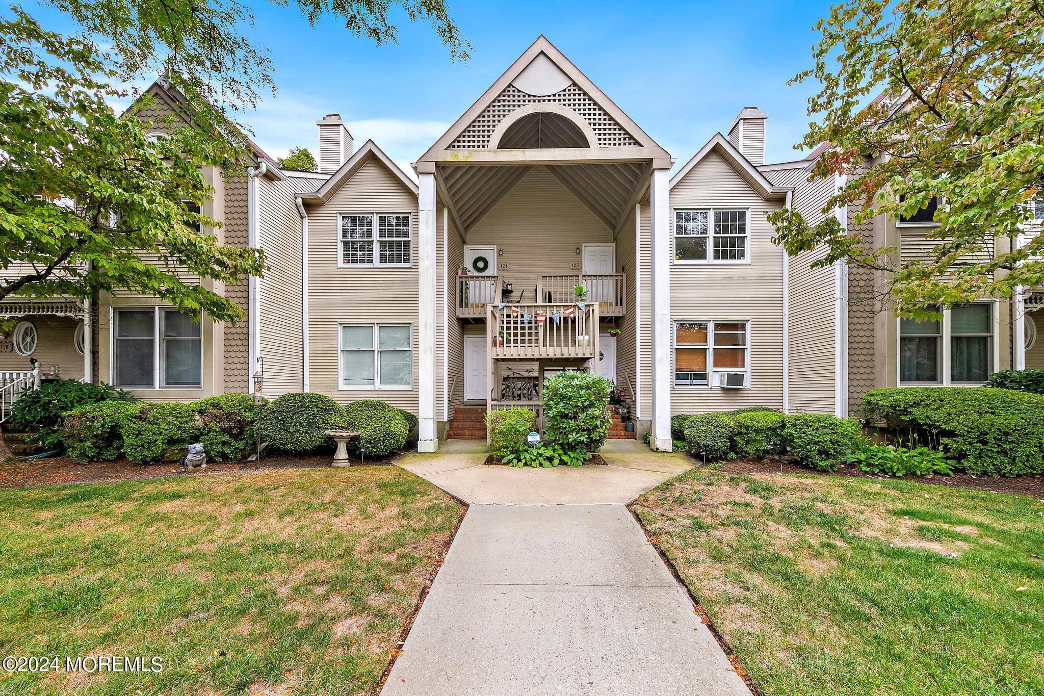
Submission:
[[[514,283],[516,302],[532,302],[543,273],[579,272],[577,246],[612,241],[612,230],[544,167],[529,171],[468,233],[468,244],[503,249],[497,272]]]

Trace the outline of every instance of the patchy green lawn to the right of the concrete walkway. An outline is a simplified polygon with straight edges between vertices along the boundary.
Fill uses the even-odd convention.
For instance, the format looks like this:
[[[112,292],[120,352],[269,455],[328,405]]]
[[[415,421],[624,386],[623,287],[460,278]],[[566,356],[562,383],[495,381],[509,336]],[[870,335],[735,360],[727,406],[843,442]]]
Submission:
[[[1044,694],[1044,502],[698,470],[635,509],[765,696]]]

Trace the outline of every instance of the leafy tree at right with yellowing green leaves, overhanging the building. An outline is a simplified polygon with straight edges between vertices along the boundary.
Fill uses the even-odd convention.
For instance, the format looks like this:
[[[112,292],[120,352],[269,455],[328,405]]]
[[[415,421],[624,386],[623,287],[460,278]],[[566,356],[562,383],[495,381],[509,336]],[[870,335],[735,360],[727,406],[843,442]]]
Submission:
[[[1024,236],[1044,181],[1044,6],[1036,0],[848,0],[815,30],[803,145],[830,148],[814,177],[845,184],[810,224],[772,213],[787,253],[826,245],[837,261],[879,271],[900,315],[1010,296],[1044,280],[1044,237]],[[877,215],[912,217],[938,202],[927,258],[902,260],[855,229]],[[944,278],[945,275],[945,278]]]

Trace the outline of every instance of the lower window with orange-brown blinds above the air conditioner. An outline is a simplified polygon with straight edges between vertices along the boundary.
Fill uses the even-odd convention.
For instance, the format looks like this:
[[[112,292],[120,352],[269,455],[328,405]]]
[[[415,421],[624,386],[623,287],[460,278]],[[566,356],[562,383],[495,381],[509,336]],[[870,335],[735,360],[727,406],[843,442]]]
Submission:
[[[674,384],[717,386],[716,375],[743,373],[750,385],[749,321],[675,321]]]

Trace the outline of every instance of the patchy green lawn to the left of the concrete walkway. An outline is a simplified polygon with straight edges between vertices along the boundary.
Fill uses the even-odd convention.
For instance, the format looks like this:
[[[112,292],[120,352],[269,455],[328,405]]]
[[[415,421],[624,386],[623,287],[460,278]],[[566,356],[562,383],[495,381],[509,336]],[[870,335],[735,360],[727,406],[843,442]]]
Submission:
[[[459,517],[390,466],[0,490],[0,655],[165,668],[0,693],[367,693]]]

